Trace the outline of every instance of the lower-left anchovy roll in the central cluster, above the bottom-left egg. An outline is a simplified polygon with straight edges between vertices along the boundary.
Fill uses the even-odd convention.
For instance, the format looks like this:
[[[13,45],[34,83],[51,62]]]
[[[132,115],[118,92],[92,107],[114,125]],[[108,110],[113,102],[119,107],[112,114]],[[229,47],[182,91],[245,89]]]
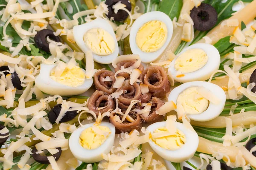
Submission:
[[[90,97],[88,104],[90,111],[93,111],[98,116],[100,113],[105,113],[109,110],[114,110],[115,102],[104,91],[95,91]]]

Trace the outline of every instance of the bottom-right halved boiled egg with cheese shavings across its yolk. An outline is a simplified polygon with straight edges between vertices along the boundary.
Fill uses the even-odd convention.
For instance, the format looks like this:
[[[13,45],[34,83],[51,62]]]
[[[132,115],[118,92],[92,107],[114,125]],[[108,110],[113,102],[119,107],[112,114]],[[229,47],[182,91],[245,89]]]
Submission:
[[[163,159],[171,162],[186,161],[195,154],[199,139],[197,133],[185,125],[174,122],[175,134],[168,134],[166,122],[156,122],[148,126],[147,130],[152,134],[148,142],[151,148]]]

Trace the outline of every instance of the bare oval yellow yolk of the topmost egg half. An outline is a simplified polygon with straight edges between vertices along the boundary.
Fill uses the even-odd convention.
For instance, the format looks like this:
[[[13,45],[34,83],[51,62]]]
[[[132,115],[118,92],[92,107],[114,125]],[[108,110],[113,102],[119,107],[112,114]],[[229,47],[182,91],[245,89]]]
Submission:
[[[159,50],[167,38],[166,24],[153,20],[140,27],[136,35],[136,44],[141,51],[150,53]]]

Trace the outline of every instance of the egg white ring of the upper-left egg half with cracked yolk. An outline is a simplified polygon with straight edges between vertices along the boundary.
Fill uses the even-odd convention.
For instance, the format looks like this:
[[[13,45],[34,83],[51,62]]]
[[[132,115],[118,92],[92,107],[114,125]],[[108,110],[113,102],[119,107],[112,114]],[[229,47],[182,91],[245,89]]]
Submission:
[[[91,22],[81,24],[79,26],[74,26],[73,28],[73,34],[74,39],[76,41],[76,44],[81,48],[81,50],[85,53],[86,51],[91,51],[90,48],[87,47],[87,45],[84,42],[84,34],[89,31],[92,28],[102,28],[105,31],[108,31],[109,34],[113,37],[113,40],[115,41],[115,50],[112,54],[108,54],[105,56],[100,56],[95,53],[93,53],[93,59],[94,61],[101,63],[101,64],[110,64],[113,59],[115,59],[119,54],[119,47],[116,40],[116,34],[113,31],[113,28],[111,25],[103,20],[102,18],[97,18]]]

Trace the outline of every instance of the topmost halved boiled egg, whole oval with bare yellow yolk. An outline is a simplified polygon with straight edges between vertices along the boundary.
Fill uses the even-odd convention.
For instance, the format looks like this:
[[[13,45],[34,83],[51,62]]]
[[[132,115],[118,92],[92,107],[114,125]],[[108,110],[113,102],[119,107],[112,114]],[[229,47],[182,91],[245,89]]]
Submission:
[[[168,15],[160,11],[145,13],[131,27],[131,51],[139,54],[142,62],[153,62],[169,44],[172,32],[172,20]]]

